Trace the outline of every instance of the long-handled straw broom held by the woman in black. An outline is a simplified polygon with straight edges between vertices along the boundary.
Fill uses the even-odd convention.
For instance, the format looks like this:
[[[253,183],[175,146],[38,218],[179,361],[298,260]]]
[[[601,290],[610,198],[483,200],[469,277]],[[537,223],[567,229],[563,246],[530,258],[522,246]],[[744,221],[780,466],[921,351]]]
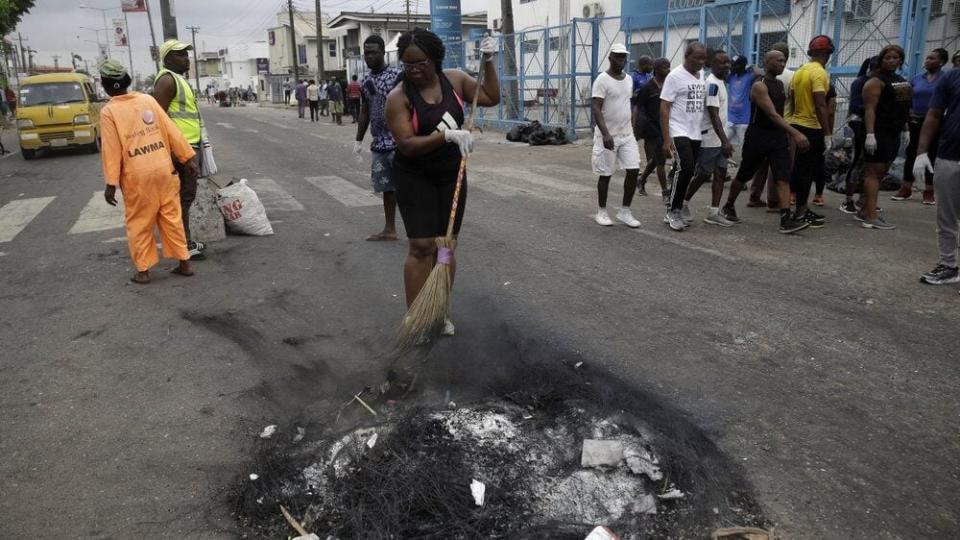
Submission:
[[[477,98],[483,86],[483,69],[477,75],[477,91],[473,93],[473,103],[470,106],[470,117],[467,118],[465,129],[471,131],[477,116]],[[453,204],[450,206],[450,219],[447,221],[446,236],[438,236],[437,264],[427,277],[423,288],[414,298],[407,314],[404,315],[400,328],[394,338],[394,348],[404,350],[417,343],[417,340],[434,331],[443,324],[444,319],[450,316],[450,291],[453,288],[450,262],[453,259],[453,250],[456,240],[453,238],[453,225],[457,218],[457,208],[460,205],[460,189],[463,187],[463,177],[467,170],[467,156],[460,157],[460,170],[457,171],[457,186],[453,191]]]

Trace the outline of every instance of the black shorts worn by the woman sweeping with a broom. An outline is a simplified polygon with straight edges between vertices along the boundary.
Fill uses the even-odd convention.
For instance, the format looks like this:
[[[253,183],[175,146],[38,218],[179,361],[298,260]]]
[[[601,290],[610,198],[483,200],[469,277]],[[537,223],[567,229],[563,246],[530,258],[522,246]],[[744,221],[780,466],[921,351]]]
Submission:
[[[396,187],[397,206],[407,231],[407,238],[436,238],[447,234],[453,192],[457,186],[456,173],[437,182],[432,175],[414,171],[394,161],[393,181]],[[467,173],[463,175],[460,202],[453,224],[453,234],[460,233],[463,213],[467,206]]]

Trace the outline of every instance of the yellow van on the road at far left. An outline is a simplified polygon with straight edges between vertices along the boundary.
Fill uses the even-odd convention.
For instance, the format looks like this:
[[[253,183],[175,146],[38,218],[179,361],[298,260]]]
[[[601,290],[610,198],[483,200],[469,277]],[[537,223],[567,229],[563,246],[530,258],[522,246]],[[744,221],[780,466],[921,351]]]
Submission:
[[[93,80],[80,73],[27,77],[17,100],[17,132],[23,159],[41,148],[100,151],[100,107]]]

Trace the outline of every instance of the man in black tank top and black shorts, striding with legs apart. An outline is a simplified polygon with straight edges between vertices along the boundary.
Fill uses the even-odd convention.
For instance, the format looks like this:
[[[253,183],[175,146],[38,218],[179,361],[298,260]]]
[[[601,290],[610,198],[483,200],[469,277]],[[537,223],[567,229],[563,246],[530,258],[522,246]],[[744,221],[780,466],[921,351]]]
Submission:
[[[750,125],[743,141],[740,168],[730,185],[723,214],[730,221],[740,221],[734,209],[737,196],[765,160],[769,160],[779,195],[780,232],[790,234],[809,227],[810,223],[790,211],[790,143],[787,137],[793,138],[801,152],[807,151],[810,141],[783,119],[787,94],[777,75],[783,73],[787,57],[773,50],[763,57],[763,64],[763,78],[750,88]]]

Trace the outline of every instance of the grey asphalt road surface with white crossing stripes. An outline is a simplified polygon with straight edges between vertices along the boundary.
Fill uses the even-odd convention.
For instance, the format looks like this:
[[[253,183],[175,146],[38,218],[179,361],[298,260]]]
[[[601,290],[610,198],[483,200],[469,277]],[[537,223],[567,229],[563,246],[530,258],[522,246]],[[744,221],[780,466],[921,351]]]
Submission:
[[[2,538],[233,538],[260,429],[378,368],[405,248],[363,240],[382,218],[353,127],[205,115],[276,235],[212,245],[190,279],[128,283],[97,156],[0,158]],[[879,232],[829,194],[818,231],[742,208],[674,233],[651,196],[640,229],[601,228],[589,148],[501,140],[472,159],[448,364],[490,328],[575,351],[709,433],[786,538],[960,534],[960,296],[917,282],[933,208],[884,197]]]

